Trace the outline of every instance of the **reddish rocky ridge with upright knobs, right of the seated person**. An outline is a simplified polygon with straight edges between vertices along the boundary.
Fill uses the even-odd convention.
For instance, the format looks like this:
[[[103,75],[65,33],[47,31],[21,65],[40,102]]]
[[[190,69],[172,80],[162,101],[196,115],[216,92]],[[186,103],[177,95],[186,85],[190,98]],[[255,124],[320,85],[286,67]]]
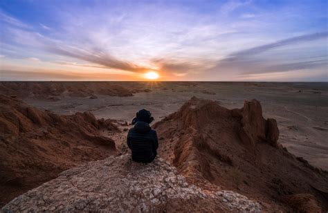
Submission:
[[[234,190],[269,211],[290,211],[291,203],[299,203],[294,210],[300,203],[309,212],[328,209],[327,172],[279,144],[277,122],[263,118],[257,100],[229,110],[192,98],[154,128],[159,154],[195,185]]]

